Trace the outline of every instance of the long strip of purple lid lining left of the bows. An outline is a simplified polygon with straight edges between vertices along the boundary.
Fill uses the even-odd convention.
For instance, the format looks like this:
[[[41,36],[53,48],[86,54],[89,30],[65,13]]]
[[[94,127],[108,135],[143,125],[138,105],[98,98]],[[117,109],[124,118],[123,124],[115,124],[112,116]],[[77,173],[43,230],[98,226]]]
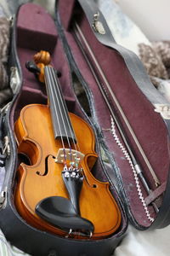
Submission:
[[[85,61],[82,61],[81,53],[79,52],[77,44],[75,44],[71,34],[67,32],[66,35],[67,40],[71,45],[74,57],[77,61],[77,65],[81,70],[82,76],[86,79],[88,86],[92,91],[94,98],[95,119],[97,119],[99,122],[99,125],[105,137],[105,143],[113,154],[113,157],[116,160],[116,165],[121,172],[124,188],[126,190],[127,198],[129,201],[129,207],[133,212],[134,218],[136,218],[139,224],[149,226],[150,221],[145,217],[144,207],[142,207],[141,201],[139,200],[139,196],[137,194],[137,189],[133,178],[133,172],[129,168],[129,164],[125,159],[125,156],[122,154],[122,150],[117,146],[111,135],[111,117],[108,109],[105,106],[104,98],[103,96],[101,96],[99,90],[97,89],[97,84],[94,81],[92,73],[89,72],[87,64],[85,63]],[[146,196],[145,193],[144,196]],[[150,213],[155,215],[152,207],[150,207]]]

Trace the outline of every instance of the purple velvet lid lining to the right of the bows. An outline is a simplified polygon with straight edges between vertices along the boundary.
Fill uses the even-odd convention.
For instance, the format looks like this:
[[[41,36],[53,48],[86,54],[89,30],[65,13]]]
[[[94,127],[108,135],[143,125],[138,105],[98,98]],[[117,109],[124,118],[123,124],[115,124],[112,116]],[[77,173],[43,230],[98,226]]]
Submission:
[[[144,152],[150,160],[151,166],[153,166],[156,174],[161,179],[161,183],[164,182],[167,178],[169,168],[169,142],[167,140],[167,127],[165,123],[161,119],[160,114],[154,111],[153,105],[147,100],[144,94],[139,90],[137,84],[133,81],[122,57],[118,55],[116,51],[99,44],[93,37],[91,29],[89,32],[87,20],[83,20],[82,27],[91,48],[93,51],[95,49],[95,55],[100,63],[100,67],[111,84],[116,99],[120,102],[123,112],[139,139],[139,143],[142,145],[142,148],[144,148]],[[94,38],[94,40],[92,38]],[[96,86],[94,90],[96,91]],[[98,97],[96,97],[95,104],[96,108],[98,108]],[[119,111],[116,111],[116,113],[119,113]],[[107,118],[104,119],[103,114],[99,114],[99,122],[101,124],[106,124],[107,120]],[[122,124],[124,123],[122,122]],[[108,125],[110,125],[110,121]],[[124,127],[126,128],[126,125],[124,125]],[[128,137],[130,137],[130,135]],[[145,168],[144,160],[133,143],[132,137],[130,141],[133,144],[137,158],[144,167],[144,170],[146,170],[145,176],[153,183],[149,175],[150,172]],[[110,143],[110,141],[108,141],[108,143]]]

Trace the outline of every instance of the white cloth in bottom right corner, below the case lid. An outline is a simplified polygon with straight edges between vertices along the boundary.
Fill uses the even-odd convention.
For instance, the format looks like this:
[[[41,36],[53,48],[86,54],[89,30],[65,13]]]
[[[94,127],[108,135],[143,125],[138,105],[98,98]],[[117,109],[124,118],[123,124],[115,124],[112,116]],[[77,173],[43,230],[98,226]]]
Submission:
[[[169,235],[170,226],[161,230],[139,231],[129,225],[127,236],[116,247],[114,256],[168,256]]]

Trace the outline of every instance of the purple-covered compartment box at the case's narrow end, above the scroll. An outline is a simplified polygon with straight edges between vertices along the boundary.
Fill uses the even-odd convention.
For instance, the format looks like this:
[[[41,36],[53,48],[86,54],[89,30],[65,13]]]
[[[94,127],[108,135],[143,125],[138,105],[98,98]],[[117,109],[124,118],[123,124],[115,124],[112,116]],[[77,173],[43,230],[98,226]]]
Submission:
[[[54,21],[42,7],[32,3],[22,5],[17,27],[17,44],[20,47],[49,51],[54,49],[57,40],[56,28]]]

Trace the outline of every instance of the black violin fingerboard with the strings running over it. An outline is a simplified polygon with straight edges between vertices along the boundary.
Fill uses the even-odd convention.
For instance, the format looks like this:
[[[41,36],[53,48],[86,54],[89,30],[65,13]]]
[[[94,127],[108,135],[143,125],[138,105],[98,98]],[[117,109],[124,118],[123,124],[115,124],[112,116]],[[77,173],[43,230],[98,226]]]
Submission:
[[[54,127],[54,138],[63,138],[76,142],[76,136],[71,125],[68,109],[59,85],[56,71],[53,67],[44,67],[44,78],[48,92],[48,102]]]

